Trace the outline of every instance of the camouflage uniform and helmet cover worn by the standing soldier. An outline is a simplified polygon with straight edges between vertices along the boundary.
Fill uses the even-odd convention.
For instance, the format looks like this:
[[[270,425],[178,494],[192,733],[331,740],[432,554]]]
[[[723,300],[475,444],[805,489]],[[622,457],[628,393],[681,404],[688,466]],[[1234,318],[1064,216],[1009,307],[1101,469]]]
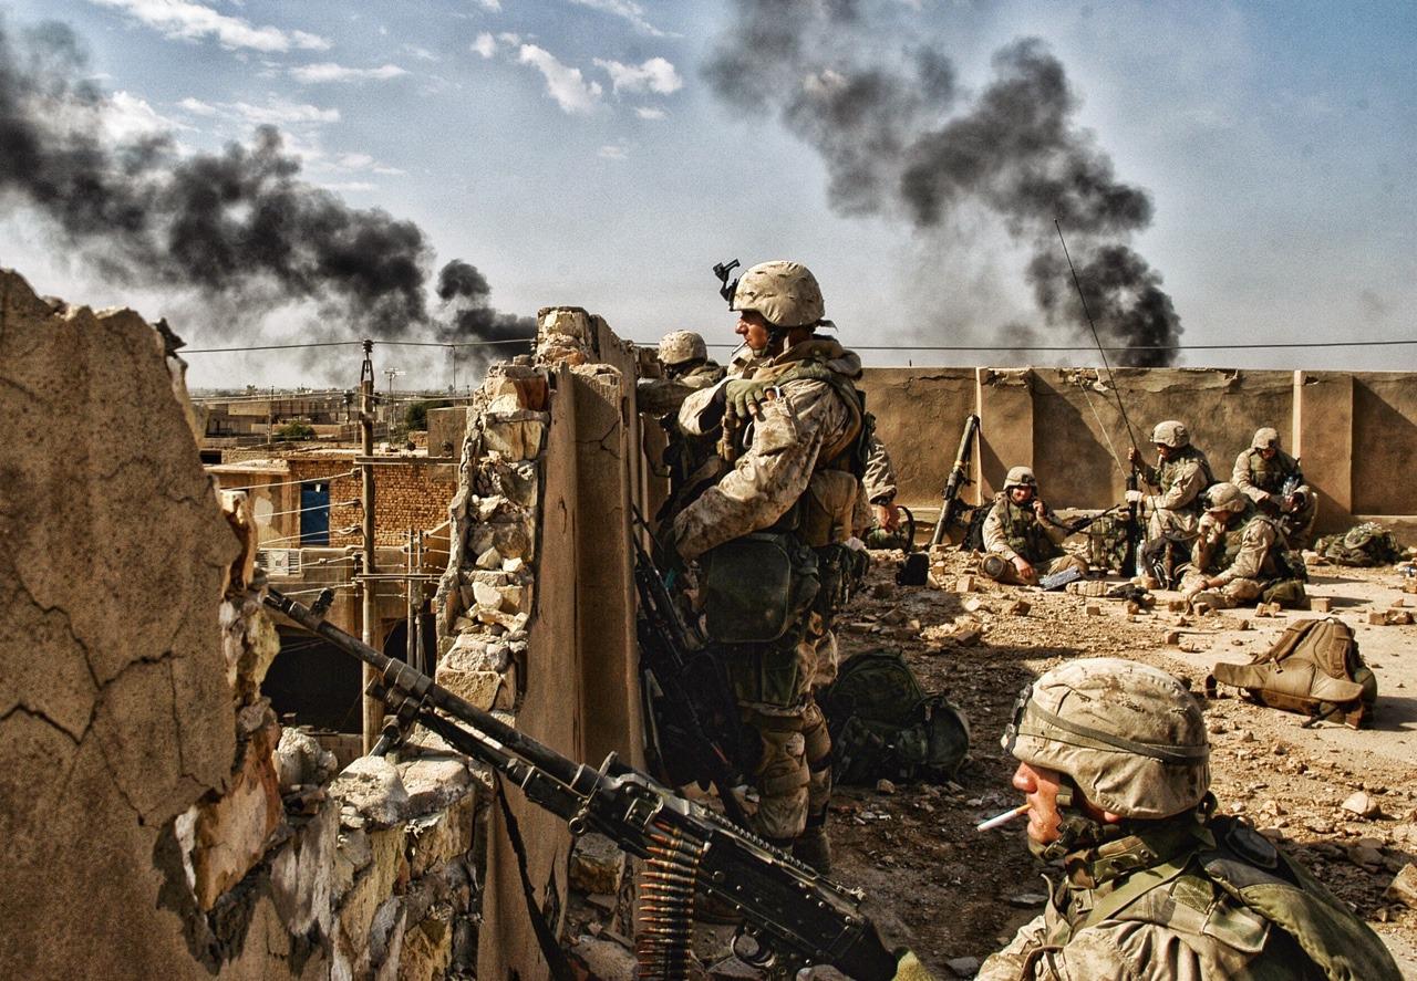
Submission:
[[[744,273],[734,309],[764,310],[743,299],[745,283],[761,282],[760,270],[769,277],[805,273],[792,285],[816,290],[816,280],[802,266],[764,263]],[[815,300],[806,304],[815,306],[815,314],[798,323],[819,321],[820,293],[809,300]],[[832,788],[832,743],[812,685],[820,674],[819,665],[836,662],[830,617],[835,580],[843,572],[837,559],[853,534],[860,491],[850,457],[863,425],[853,386],[862,365],[856,354],[835,340],[812,337],[777,357],[752,360],[744,365],[744,374],[750,369],[751,381],[775,386],[775,392],[764,398],[758,413],[740,430],[743,449],[733,469],[674,517],[673,537],[686,561],[711,559],[706,553],[716,546],[769,529],[791,532],[808,546],[805,553],[822,585],[798,621],[777,641],[718,647],[726,654],[743,718],[762,742],[762,755],[751,774],[758,787],[758,831],[794,847],[799,856],[820,868],[829,864],[823,825]],[[730,378],[690,395],[679,412],[683,430],[693,436],[718,428],[735,381],[748,379]],[[745,586],[751,589],[752,583]]]

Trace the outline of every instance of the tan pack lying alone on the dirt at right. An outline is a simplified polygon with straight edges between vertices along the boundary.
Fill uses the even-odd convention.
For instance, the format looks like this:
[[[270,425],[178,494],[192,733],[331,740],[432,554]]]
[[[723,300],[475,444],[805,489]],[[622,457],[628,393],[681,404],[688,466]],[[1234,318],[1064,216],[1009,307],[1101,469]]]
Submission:
[[[1372,721],[1377,702],[1377,679],[1338,617],[1292,623],[1250,664],[1217,664],[1212,678],[1244,688],[1261,705],[1312,721],[1338,718],[1353,729]]]

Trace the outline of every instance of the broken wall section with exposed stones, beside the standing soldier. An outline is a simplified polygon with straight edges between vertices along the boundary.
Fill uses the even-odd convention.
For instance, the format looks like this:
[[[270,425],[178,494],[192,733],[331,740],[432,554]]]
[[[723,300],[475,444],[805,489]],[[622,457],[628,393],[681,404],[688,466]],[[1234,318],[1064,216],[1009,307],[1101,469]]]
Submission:
[[[534,361],[493,365],[468,412],[438,592],[438,682],[572,759],[643,755],[629,511],[643,495],[633,350],[578,307],[538,314]],[[560,930],[571,838],[521,800],[536,903]],[[502,815],[489,820],[479,977],[546,977]]]

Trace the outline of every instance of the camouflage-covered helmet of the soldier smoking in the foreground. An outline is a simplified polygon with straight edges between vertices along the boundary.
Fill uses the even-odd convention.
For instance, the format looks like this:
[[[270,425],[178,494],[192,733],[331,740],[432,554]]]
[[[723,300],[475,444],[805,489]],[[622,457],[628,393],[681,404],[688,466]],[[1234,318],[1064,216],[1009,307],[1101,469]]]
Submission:
[[[1189,811],[1210,788],[1200,705],[1172,675],[1112,657],[1058,665],[1024,688],[1003,749],[1067,774],[1124,818]]]

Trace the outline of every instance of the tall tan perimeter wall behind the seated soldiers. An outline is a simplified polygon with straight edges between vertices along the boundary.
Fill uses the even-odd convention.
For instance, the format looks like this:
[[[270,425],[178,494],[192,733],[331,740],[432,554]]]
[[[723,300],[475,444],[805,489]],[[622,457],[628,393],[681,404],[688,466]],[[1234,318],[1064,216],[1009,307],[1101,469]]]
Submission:
[[[1274,426],[1319,494],[1319,532],[1373,518],[1417,532],[1417,494],[1404,474],[1417,454],[1411,372],[1118,368],[1117,386],[1145,453],[1152,426],[1180,419],[1227,480],[1254,430]],[[1131,444],[1107,374],[1090,368],[867,368],[867,405],[900,477],[898,501],[932,515],[965,418],[979,415],[971,503],[1034,469],[1058,507],[1122,500]]]

